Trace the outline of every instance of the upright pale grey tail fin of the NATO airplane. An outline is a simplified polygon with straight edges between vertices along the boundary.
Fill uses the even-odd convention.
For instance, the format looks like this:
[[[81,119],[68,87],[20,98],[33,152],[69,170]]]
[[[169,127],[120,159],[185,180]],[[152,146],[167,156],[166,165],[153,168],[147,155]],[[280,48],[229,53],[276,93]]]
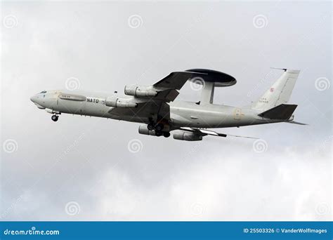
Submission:
[[[254,102],[253,109],[267,110],[289,101],[299,70],[284,69],[284,73],[261,98]]]

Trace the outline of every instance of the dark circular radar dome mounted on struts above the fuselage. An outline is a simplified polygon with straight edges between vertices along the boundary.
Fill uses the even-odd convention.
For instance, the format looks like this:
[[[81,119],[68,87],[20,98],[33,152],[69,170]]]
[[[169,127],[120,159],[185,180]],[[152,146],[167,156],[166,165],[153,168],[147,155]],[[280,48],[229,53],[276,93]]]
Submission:
[[[216,87],[226,87],[233,86],[237,83],[236,79],[229,74],[224,72],[218,72],[211,69],[188,69],[185,72],[197,72],[202,75],[196,76],[189,81],[192,81],[195,84],[203,85],[202,81],[214,83]]]

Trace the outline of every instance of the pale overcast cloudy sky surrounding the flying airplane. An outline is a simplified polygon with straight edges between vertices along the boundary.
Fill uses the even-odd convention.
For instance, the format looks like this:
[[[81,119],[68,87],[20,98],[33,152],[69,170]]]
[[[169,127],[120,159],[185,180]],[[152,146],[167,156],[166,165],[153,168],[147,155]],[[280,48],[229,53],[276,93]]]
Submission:
[[[207,68],[237,79],[214,103],[241,107],[282,74],[270,67],[301,70],[290,102],[309,125],[218,130],[261,138],[263,149],[93,117],[54,123],[30,102],[69,81],[121,93]],[[329,1],[2,2],[1,218],[332,220],[331,85]],[[177,100],[199,97],[186,84]]]

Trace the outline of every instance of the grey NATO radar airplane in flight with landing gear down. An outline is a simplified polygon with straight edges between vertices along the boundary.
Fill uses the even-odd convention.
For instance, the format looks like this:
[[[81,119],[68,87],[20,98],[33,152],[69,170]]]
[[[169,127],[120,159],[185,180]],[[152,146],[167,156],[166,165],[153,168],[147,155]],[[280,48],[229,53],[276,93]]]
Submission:
[[[42,91],[30,100],[39,109],[53,114],[58,121],[60,114],[97,116],[140,123],[138,132],[144,135],[169,138],[171,131],[176,140],[199,141],[204,136],[226,138],[207,128],[229,128],[258,124],[273,124],[294,121],[297,105],[289,105],[290,96],[299,76],[299,70],[282,69],[283,73],[259,100],[245,107],[216,105],[214,89],[236,84],[229,74],[211,69],[189,69],[171,72],[151,86],[126,85],[125,96],[84,91]],[[176,100],[187,81],[202,85],[199,102]],[[231,135],[234,137],[242,137]],[[250,137],[244,137],[250,138]]]

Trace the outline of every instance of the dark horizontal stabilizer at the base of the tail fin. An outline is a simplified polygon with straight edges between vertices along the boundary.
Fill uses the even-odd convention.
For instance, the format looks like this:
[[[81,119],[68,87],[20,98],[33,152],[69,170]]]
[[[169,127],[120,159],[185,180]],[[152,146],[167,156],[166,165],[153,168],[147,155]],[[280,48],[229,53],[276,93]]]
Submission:
[[[258,116],[262,116],[266,119],[288,120],[292,116],[296,107],[297,105],[281,104],[258,114]]]

